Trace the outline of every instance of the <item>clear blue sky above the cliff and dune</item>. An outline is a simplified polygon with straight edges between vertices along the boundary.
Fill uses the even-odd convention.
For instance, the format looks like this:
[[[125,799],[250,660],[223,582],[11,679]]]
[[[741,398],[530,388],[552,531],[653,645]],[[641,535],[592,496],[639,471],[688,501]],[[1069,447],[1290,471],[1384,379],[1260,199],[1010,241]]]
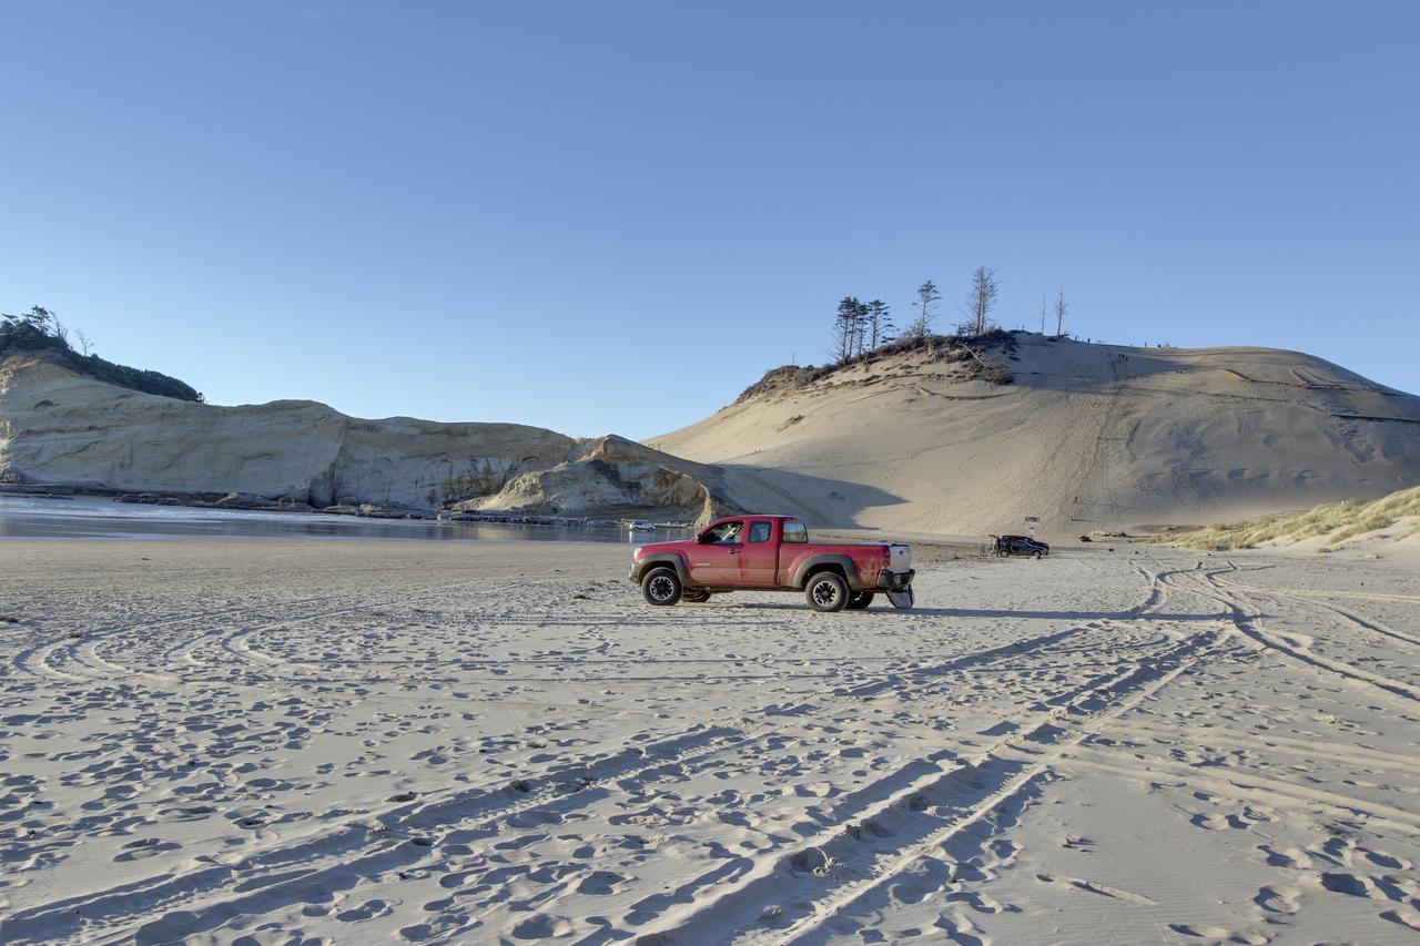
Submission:
[[[1409,391],[1420,3],[0,0],[0,310],[214,403],[645,437],[977,266]]]

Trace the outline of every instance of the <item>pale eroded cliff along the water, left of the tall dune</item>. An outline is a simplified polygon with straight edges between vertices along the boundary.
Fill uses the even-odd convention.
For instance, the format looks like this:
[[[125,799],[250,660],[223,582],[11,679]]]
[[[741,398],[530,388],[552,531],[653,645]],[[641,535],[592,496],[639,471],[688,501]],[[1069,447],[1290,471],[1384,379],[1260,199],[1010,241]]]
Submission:
[[[608,446],[611,442],[615,445]],[[322,403],[220,408],[115,388],[41,355],[0,361],[0,479],[124,491],[696,518],[714,467],[621,437],[515,423],[361,420]]]

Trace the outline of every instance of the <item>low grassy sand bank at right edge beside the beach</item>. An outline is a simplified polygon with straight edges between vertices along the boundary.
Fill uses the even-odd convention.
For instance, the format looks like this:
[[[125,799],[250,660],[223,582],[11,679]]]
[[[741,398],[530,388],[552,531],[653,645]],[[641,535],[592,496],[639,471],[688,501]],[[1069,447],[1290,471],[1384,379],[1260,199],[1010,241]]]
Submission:
[[[1326,537],[1322,551],[1340,543],[1404,523],[1396,541],[1420,533],[1420,486],[1392,493],[1379,500],[1348,500],[1326,503],[1305,513],[1272,516],[1225,526],[1204,528],[1160,538],[1174,548],[1197,548],[1206,551],[1228,551],[1233,548],[1255,548],[1265,543],[1291,545],[1306,538]]]

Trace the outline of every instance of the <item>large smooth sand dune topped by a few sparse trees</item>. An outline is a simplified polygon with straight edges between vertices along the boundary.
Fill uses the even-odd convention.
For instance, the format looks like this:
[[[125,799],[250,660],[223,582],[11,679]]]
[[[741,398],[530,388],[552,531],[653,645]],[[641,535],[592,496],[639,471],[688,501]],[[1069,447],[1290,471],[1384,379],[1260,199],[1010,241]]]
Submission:
[[[1047,535],[1201,524],[1420,482],[1420,398],[1271,348],[1129,348],[1011,334],[781,372],[649,440],[791,491],[819,524]]]

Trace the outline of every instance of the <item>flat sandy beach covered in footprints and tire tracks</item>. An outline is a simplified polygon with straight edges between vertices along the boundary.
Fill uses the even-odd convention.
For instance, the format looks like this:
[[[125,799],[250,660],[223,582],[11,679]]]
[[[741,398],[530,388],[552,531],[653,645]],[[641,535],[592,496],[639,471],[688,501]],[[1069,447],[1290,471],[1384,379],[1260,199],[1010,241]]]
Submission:
[[[0,940],[1420,936],[1413,557],[0,544]]]

